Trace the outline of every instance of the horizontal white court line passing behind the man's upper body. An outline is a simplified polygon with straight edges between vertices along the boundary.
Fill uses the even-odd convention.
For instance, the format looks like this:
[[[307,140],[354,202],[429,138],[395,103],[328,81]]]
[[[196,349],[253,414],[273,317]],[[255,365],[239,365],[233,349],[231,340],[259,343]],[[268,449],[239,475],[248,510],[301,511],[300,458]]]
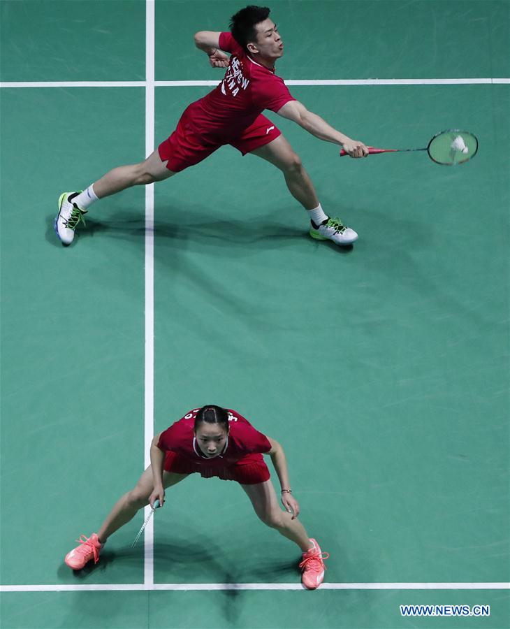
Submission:
[[[150,4],[153,0],[147,1]],[[152,42],[154,45],[154,41]],[[152,49],[154,52],[154,48]],[[152,57],[154,62],[154,57]],[[154,67],[152,68],[154,71]],[[4,81],[0,87],[215,87],[207,81]],[[286,85],[510,85],[510,78],[446,79],[303,79],[286,80]]]

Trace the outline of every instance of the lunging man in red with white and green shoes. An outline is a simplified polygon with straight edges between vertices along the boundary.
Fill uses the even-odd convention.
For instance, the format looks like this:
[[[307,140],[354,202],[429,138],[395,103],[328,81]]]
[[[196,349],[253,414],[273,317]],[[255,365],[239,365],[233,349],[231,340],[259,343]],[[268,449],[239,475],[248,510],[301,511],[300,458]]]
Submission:
[[[333,129],[291,96],[275,74],[275,62],[284,54],[284,45],[269,13],[267,7],[247,6],[231,18],[230,33],[195,34],[197,48],[207,54],[212,67],[226,68],[224,79],[184,111],[177,129],[145,161],[113,168],[85,191],[61,194],[54,227],[64,245],[72,243],[76,227],[85,224],[85,213],[98,199],[172,177],[226,144],[282,171],[290,193],[308,212],[312,238],[333,240],[337,245],[354,243],[356,231],[324,212],[300,158],[261,112],[269,109],[293,120],[317,138],[342,146],[351,157],[367,156],[367,147]]]

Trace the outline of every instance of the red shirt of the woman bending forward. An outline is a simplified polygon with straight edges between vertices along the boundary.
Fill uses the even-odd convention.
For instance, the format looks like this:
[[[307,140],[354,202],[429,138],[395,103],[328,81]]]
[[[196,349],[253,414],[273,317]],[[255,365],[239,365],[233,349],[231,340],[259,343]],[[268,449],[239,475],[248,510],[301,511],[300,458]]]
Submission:
[[[191,410],[161,433],[158,447],[161,450],[177,452],[196,465],[205,465],[208,468],[224,468],[239,461],[247,454],[263,454],[270,451],[271,444],[265,435],[259,433],[237,411],[227,409],[229,431],[224,451],[212,458],[201,454],[194,435],[195,416],[198,410],[198,408]]]

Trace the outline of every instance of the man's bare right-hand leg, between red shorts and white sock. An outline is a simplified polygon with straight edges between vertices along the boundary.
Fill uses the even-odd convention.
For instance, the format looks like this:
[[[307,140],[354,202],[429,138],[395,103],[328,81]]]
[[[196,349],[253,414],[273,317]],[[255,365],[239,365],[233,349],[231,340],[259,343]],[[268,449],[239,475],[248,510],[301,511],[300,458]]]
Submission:
[[[298,154],[294,152],[284,136],[278,136],[269,144],[253,150],[252,154],[270,161],[284,173],[290,193],[296,201],[303,205],[305,210],[313,210],[319,205],[319,199],[315,194],[314,185],[307,171],[301,164]]]

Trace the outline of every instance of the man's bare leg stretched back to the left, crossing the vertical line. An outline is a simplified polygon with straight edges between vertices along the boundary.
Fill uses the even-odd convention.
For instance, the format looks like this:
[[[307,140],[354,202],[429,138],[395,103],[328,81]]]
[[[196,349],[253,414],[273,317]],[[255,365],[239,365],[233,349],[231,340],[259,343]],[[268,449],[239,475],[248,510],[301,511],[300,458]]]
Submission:
[[[162,181],[175,175],[166,168],[166,161],[161,161],[159,152],[154,151],[147,159],[131,166],[117,166],[94,182],[94,193],[98,198],[110,196],[131,186],[140,186]]]

